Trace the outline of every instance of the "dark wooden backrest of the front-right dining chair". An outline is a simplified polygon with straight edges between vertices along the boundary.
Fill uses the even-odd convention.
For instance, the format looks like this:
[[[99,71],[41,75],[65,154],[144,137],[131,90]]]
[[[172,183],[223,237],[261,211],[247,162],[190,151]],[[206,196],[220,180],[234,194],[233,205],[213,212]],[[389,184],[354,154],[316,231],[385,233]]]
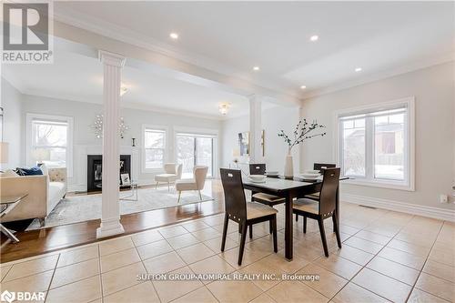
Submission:
[[[324,178],[319,193],[319,214],[329,214],[337,205],[339,189],[339,167],[324,169]]]

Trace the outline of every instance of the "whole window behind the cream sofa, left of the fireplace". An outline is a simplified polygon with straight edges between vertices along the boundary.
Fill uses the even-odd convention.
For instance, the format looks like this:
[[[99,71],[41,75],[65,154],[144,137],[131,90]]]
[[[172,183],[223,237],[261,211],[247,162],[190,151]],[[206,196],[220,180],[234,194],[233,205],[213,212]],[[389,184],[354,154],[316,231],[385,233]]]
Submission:
[[[73,119],[66,116],[27,115],[27,163],[66,167],[72,177]]]

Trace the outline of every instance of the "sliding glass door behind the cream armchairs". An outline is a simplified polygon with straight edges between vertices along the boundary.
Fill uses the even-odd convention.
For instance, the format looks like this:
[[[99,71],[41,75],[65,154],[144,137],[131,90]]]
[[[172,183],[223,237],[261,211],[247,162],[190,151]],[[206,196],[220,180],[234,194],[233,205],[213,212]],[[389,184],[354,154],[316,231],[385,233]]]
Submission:
[[[177,163],[183,165],[182,177],[192,177],[195,166],[208,167],[207,177],[213,176],[214,136],[177,134]]]

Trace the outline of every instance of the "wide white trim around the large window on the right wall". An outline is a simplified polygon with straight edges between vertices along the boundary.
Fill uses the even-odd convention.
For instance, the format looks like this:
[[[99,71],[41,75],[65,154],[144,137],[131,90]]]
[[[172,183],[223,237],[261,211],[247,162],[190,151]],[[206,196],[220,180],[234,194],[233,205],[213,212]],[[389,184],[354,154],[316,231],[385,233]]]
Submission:
[[[405,172],[405,181],[388,181],[388,180],[380,180],[380,179],[352,179],[348,180],[347,182],[350,184],[356,184],[360,186],[368,186],[368,187],[382,187],[382,188],[391,188],[391,189],[399,189],[399,190],[407,190],[407,191],[415,191],[415,97],[409,96],[405,98],[400,98],[396,100],[391,100],[387,102],[380,102],[371,105],[365,106],[356,106],[350,107],[345,109],[340,109],[334,112],[333,116],[333,125],[335,126],[336,136],[333,136],[333,145],[334,148],[334,158],[336,159],[336,163],[341,166],[341,159],[340,159],[340,149],[342,148],[342,143],[340,142],[340,132],[341,128],[339,126],[339,117],[346,116],[349,114],[364,112],[364,111],[381,111],[387,110],[393,106],[399,105],[406,105],[407,106],[407,117],[408,121],[405,123],[407,127],[405,128],[405,132],[407,136],[405,136],[405,161],[408,162],[408,172]],[[367,148],[371,148],[371,145],[366,142]],[[366,151],[366,156],[372,155],[371,153]],[[368,159],[367,159],[368,160]],[[369,176],[369,172],[366,172],[367,176]]]

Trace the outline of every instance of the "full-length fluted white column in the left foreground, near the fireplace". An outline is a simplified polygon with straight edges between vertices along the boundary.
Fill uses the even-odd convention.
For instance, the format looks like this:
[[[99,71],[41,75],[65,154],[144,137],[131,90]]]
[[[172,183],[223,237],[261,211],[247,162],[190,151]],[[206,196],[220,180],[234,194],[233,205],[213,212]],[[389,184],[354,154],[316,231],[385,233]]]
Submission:
[[[118,204],[118,171],[120,169],[120,81],[125,57],[105,51],[99,52],[104,68],[103,85],[103,188],[101,225],[96,229],[96,237],[109,237],[122,234],[125,229],[120,224]]]

